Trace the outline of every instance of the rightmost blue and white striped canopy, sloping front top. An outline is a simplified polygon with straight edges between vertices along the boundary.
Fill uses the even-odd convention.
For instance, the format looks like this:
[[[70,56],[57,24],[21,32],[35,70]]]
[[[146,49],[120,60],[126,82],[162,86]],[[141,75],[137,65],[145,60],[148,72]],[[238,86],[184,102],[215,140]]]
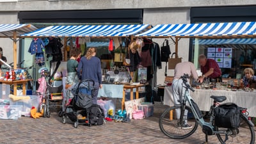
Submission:
[[[158,24],[136,36],[252,36],[256,34],[256,22],[223,22],[202,24]]]

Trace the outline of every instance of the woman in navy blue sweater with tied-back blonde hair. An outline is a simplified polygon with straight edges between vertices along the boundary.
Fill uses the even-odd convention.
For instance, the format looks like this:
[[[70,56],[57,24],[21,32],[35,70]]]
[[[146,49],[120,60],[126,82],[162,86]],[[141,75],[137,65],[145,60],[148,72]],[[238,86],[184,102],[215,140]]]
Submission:
[[[86,55],[81,58],[77,67],[78,76],[81,77],[81,81],[84,79],[90,79],[94,81],[92,91],[92,103],[97,104],[97,95],[99,88],[102,88],[102,73],[100,59],[96,55],[97,49],[90,47]]]

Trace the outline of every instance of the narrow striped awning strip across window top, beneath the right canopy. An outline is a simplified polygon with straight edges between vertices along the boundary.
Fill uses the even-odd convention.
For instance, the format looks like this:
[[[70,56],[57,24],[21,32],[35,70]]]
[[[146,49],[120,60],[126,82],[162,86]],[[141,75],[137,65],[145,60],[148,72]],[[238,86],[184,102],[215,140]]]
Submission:
[[[195,40],[193,41],[195,44]],[[231,39],[198,39],[200,45],[221,45],[221,44],[256,44],[256,38],[231,38]]]

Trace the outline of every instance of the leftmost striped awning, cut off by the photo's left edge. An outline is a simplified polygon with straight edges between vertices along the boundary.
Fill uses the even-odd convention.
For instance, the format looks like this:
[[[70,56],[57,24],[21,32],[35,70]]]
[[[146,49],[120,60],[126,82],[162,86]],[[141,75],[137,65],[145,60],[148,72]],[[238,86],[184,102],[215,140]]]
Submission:
[[[16,31],[16,36],[19,37],[25,33],[35,31],[37,28],[31,24],[0,24],[0,37],[13,37],[13,32]]]

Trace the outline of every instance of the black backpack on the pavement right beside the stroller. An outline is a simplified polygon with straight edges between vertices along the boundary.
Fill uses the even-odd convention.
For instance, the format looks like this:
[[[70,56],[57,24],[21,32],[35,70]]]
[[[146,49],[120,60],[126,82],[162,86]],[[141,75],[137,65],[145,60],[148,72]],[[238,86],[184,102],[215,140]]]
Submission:
[[[104,110],[98,104],[92,104],[89,108],[89,122],[92,125],[102,125],[104,123]]]

